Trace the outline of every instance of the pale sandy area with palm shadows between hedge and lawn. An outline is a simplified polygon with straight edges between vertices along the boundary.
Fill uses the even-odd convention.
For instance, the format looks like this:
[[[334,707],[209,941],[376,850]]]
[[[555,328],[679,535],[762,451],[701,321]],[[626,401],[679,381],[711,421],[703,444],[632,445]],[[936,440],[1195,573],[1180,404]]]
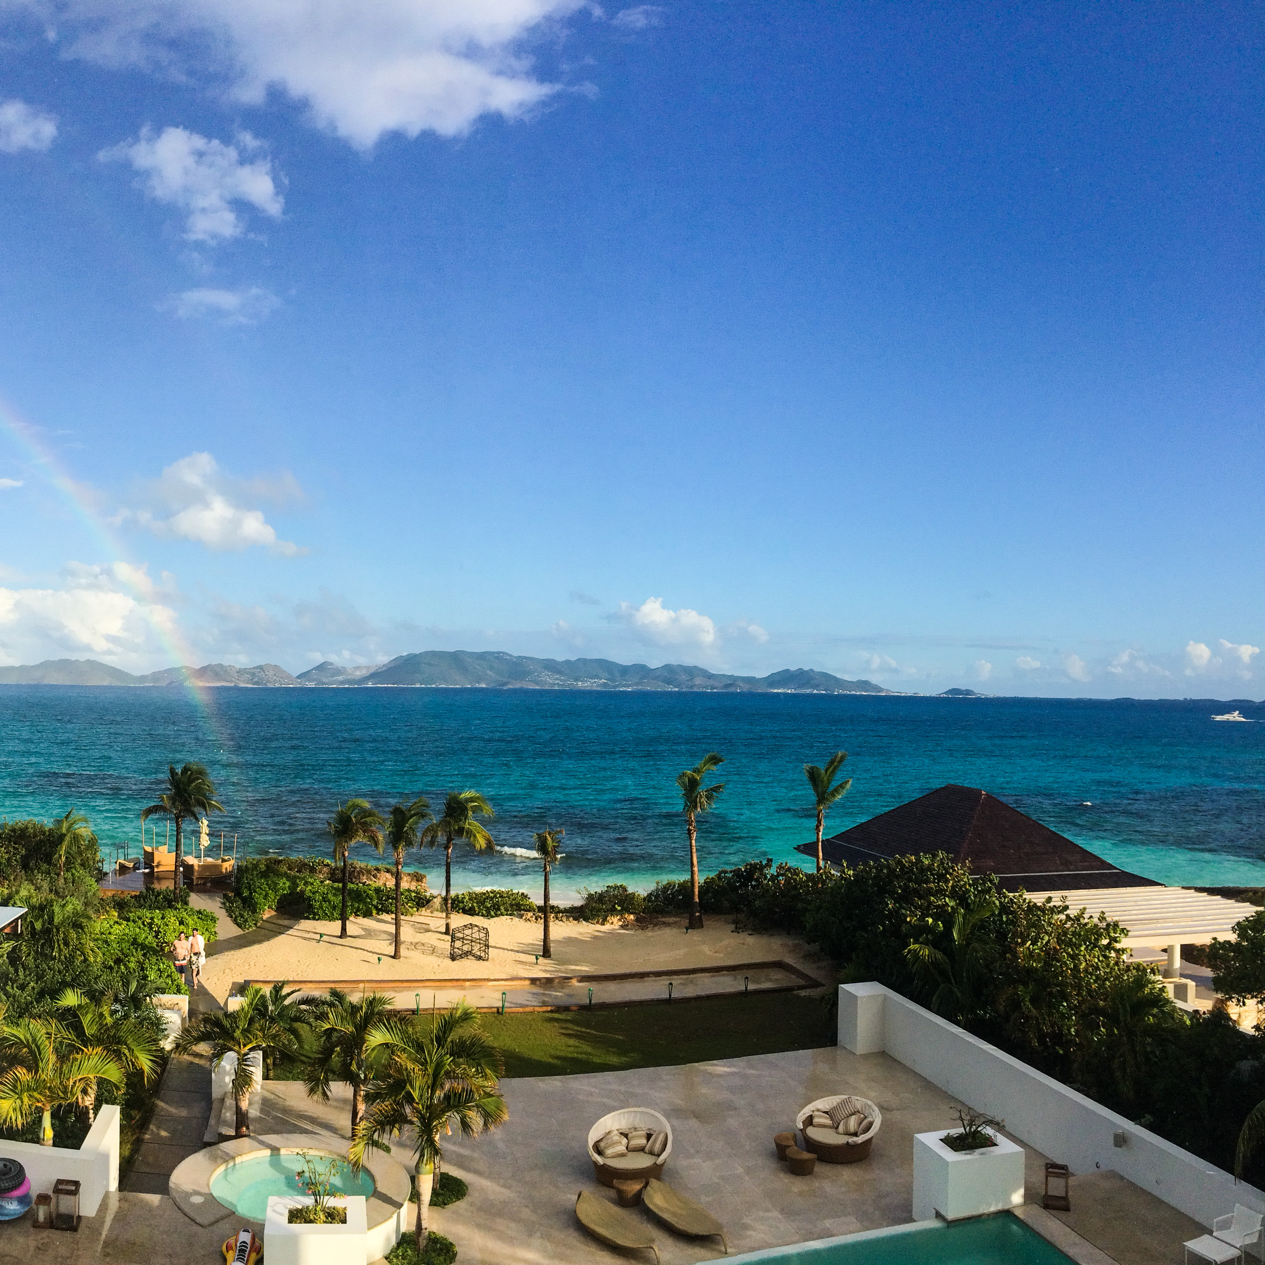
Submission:
[[[598,926],[587,922],[555,922],[553,926],[553,958],[538,959],[541,925],[517,917],[474,918],[454,916],[454,925],[476,923],[488,931],[488,960],[449,960],[449,941],[444,935],[443,916],[421,915],[404,921],[402,956],[391,954],[395,942],[395,920],[390,915],[352,918],[348,939],[339,939],[336,922],[315,922],[273,916],[253,931],[239,932],[220,916],[221,939],[211,946],[202,980],[207,992],[220,1004],[231,992],[248,982],[285,979],[295,985],[307,983],[328,987],[330,983],[381,985],[393,990],[397,985],[434,983],[445,996],[469,996],[476,1004],[495,1004],[500,999],[482,994],[477,982],[524,982],[509,1004],[567,1004],[560,997],[545,998],[558,992],[545,987],[530,988],[526,980],[557,978],[559,990],[569,977],[610,975],[634,972],[710,970],[712,977],[678,979],[676,996],[700,996],[705,992],[740,990],[743,975],[722,968],[740,968],[753,963],[787,963],[816,980],[831,978],[832,966],[816,950],[791,936],[735,934],[731,920],[708,918],[702,931],[686,934],[684,920],[673,918],[654,926]],[[717,970],[717,968],[721,968]],[[788,987],[802,979],[764,969],[748,973],[753,989]],[[452,982],[444,987],[444,982]],[[462,982],[462,983],[457,983]],[[469,982],[469,983],[466,983]],[[635,999],[640,996],[665,993],[665,984],[654,982],[640,990],[624,985],[616,997],[603,987],[607,1001]],[[474,994],[478,996],[474,996]],[[443,1004],[445,996],[440,996]],[[414,994],[407,994],[411,1006]],[[600,998],[601,999],[601,998]],[[428,1002],[430,998],[428,997]]]

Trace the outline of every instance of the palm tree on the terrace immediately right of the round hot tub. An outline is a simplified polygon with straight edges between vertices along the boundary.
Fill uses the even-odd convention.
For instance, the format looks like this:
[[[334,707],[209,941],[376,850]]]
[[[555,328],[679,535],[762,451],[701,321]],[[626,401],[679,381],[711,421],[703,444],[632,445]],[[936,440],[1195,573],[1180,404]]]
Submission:
[[[391,1020],[369,1037],[388,1063],[366,1092],[364,1120],[347,1157],[357,1168],[368,1149],[411,1128],[417,1190],[417,1246],[426,1246],[430,1192],[443,1160],[440,1133],[455,1126],[467,1137],[505,1122],[509,1111],[497,1077],[501,1056],[478,1027],[478,1012],[455,1002],[438,1018]]]

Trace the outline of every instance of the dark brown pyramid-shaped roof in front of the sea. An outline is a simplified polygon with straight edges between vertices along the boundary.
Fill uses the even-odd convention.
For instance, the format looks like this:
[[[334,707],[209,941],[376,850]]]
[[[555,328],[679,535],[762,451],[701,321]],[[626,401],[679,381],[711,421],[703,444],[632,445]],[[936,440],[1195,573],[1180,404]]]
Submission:
[[[797,850],[816,855],[815,844],[802,844]],[[1159,885],[1154,879],[1117,869],[985,791],[953,784],[822,840],[821,851],[836,865],[947,853],[977,874],[996,874],[1011,892]]]

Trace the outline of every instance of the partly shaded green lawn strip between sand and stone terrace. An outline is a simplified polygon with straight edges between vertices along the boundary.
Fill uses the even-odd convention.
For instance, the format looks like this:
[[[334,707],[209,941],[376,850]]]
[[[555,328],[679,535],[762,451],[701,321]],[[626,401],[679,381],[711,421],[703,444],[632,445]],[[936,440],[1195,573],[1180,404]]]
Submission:
[[[511,1011],[483,1015],[482,1022],[505,1055],[506,1077],[624,1071],[834,1045],[834,1025],[821,1001],[802,993]]]

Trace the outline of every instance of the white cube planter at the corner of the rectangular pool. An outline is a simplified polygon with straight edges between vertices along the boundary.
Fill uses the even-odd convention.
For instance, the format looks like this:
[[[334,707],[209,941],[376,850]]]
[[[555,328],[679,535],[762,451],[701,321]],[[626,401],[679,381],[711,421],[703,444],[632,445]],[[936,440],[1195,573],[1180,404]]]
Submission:
[[[913,1219],[958,1221],[1023,1203],[1023,1147],[989,1130],[996,1146],[953,1151],[941,1141],[953,1132],[913,1135]]]

